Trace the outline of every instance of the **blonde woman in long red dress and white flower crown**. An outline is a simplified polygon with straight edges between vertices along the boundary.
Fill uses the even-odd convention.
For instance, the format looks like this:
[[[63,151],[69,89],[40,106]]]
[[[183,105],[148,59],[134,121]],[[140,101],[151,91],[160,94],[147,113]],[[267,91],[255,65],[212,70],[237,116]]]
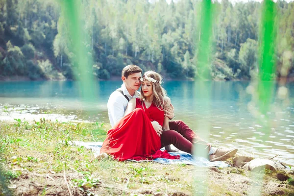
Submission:
[[[160,74],[148,71],[141,78],[141,97],[129,101],[124,117],[109,130],[103,142],[101,153],[112,155],[115,159],[154,159],[158,157],[178,159],[160,148],[173,144],[191,153],[192,143],[173,130],[169,130],[169,119],[164,117],[164,109],[171,100],[162,88]],[[166,138],[156,132],[151,122],[157,121],[163,128]],[[170,150],[169,147],[166,149]]]

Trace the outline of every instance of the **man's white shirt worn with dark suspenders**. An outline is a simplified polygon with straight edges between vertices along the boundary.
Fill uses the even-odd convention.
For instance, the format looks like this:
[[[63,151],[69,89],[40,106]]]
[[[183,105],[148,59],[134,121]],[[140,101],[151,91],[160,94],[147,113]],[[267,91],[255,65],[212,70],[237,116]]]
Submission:
[[[122,90],[123,94],[126,95],[130,100],[132,98],[138,98],[140,95],[138,91],[135,91],[135,94],[132,97],[127,91],[124,83],[118,90]],[[108,99],[108,118],[112,127],[123,118],[123,114],[128,103],[128,100],[123,96],[123,94],[121,92],[114,91]]]

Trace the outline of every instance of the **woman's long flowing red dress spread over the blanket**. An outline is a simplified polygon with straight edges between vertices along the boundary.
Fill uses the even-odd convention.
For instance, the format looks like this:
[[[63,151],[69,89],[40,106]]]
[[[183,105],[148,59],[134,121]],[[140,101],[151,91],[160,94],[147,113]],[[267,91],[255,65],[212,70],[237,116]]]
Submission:
[[[108,131],[100,152],[106,152],[119,161],[150,160],[158,157],[179,159],[179,156],[172,156],[166,150],[160,150],[160,137],[151,121],[157,121],[162,126],[164,111],[159,110],[153,103],[146,108],[145,103],[136,98],[136,109]]]

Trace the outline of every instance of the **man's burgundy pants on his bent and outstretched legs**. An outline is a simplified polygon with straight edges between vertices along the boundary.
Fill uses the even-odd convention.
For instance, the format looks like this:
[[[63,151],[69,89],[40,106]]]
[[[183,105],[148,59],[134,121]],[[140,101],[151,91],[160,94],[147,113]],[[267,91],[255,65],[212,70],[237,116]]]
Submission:
[[[173,145],[179,150],[192,153],[193,144],[199,144],[197,147],[206,148],[209,151],[210,144],[202,140],[187,124],[183,121],[171,121],[170,129],[163,131],[160,137],[161,147]]]

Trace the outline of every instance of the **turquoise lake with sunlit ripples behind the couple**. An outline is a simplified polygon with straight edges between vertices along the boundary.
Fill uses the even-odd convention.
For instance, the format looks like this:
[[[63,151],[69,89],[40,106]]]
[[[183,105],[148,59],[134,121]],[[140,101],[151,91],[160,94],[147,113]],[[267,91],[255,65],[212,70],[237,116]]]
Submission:
[[[0,121],[44,117],[109,123],[107,99],[121,84],[96,81],[94,86],[81,87],[76,81],[0,82]],[[175,119],[210,143],[238,147],[261,158],[279,154],[274,160],[294,165],[294,82],[280,93],[279,85],[271,84],[266,115],[259,112],[265,100],[255,100],[256,88],[248,81],[165,81],[163,87],[172,100]]]

